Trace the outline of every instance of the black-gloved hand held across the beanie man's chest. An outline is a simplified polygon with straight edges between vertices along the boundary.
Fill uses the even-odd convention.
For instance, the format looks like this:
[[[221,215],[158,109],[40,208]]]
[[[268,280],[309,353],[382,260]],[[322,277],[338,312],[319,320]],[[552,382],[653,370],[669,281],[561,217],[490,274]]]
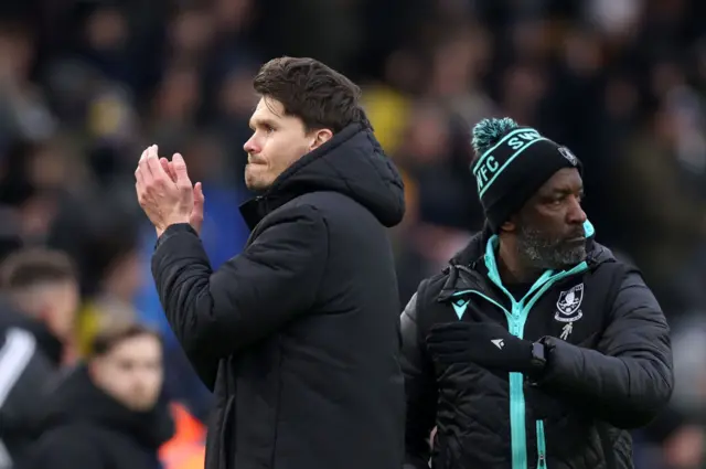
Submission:
[[[449,322],[431,328],[427,348],[441,363],[475,363],[490,371],[532,371],[532,342],[496,322]]]

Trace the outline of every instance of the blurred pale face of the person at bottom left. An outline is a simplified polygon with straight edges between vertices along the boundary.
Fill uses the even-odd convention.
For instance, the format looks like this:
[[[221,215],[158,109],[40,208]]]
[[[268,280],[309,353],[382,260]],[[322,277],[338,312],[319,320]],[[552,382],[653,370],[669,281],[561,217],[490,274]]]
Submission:
[[[92,362],[95,384],[131,411],[154,407],[162,388],[162,348],[150,334],[126,339]]]

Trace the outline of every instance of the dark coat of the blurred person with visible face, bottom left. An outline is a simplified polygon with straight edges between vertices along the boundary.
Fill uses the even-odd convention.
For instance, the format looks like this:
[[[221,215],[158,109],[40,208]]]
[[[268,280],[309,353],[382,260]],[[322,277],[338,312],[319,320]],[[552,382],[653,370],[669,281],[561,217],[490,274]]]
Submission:
[[[100,391],[84,366],[46,403],[31,469],[160,469],[159,448],[174,434],[169,407],[133,412]]]

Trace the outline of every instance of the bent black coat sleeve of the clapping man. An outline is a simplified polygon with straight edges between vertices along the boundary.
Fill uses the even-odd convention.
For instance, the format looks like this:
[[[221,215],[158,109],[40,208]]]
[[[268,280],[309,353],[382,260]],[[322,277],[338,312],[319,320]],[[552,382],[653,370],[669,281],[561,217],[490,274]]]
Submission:
[[[167,319],[208,388],[220,359],[311,308],[327,257],[325,223],[309,205],[281,214],[215,271],[191,226],[164,232],[152,256],[152,275]]]

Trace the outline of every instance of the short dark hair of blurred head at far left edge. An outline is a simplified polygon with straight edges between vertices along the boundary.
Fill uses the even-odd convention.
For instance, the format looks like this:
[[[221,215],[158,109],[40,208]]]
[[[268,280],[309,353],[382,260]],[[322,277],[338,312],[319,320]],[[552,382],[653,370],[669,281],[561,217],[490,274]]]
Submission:
[[[0,287],[18,290],[44,283],[77,281],[71,257],[62,251],[24,248],[11,253],[0,266]]]

